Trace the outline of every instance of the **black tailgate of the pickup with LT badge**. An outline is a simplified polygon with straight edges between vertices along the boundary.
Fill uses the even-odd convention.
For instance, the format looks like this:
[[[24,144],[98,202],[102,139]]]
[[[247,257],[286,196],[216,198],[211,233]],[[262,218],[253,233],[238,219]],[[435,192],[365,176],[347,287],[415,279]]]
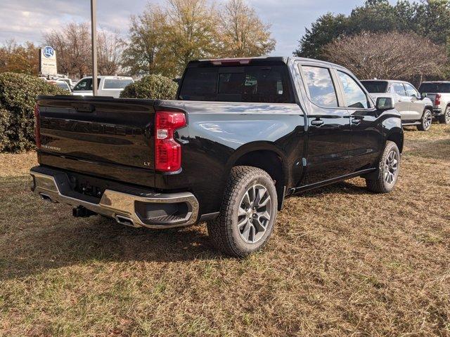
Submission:
[[[40,97],[40,164],[153,186],[153,104],[153,100]]]

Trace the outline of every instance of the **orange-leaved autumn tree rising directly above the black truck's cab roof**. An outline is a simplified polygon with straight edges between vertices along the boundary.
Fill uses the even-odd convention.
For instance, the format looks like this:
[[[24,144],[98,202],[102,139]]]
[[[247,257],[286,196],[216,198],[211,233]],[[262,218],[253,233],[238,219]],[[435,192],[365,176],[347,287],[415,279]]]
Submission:
[[[229,0],[220,15],[221,55],[240,58],[266,55],[274,50],[275,40],[254,8],[244,0]]]

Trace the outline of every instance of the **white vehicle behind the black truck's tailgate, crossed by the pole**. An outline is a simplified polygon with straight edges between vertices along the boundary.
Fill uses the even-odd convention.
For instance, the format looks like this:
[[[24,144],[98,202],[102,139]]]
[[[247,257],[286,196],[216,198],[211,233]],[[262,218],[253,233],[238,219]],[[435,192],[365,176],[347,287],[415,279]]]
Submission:
[[[122,76],[99,76],[98,95],[119,98],[124,88],[133,83],[131,77]],[[92,77],[83,77],[73,88],[74,95],[91,96],[92,95]]]

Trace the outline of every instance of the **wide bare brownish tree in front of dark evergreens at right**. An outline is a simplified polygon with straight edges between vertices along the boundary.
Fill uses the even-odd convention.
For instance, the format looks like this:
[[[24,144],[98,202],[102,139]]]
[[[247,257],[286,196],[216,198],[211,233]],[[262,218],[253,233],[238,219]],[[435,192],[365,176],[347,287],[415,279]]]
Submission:
[[[447,60],[444,48],[430,39],[399,32],[362,32],[342,37],[327,44],[323,56],[347,67],[360,79],[412,79],[417,74],[437,75]]]

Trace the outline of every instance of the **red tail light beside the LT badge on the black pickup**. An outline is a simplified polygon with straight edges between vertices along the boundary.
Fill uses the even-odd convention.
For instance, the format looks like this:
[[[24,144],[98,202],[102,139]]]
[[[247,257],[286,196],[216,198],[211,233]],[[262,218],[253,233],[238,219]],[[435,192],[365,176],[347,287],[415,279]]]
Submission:
[[[186,126],[183,112],[158,111],[155,117],[155,170],[175,172],[181,169],[181,145],[174,140],[177,128]]]

